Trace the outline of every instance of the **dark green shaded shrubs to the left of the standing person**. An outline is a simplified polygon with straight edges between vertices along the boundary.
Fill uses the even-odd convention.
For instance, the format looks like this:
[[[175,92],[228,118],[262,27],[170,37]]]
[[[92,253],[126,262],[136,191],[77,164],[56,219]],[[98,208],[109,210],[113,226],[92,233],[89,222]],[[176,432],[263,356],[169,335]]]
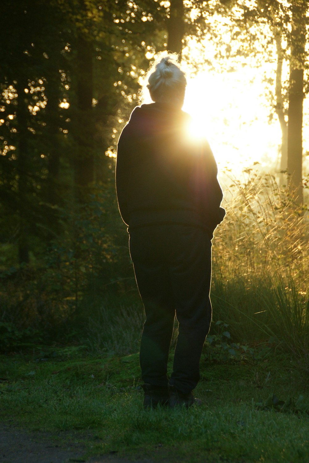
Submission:
[[[18,331],[33,327],[55,339],[69,339],[81,331],[87,335],[85,326],[89,319],[100,319],[97,307],[108,294],[119,292],[110,311],[119,310],[134,274],[113,193],[108,186],[97,188],[86,204],[59,210],[63,234],[47,250],[39,248],[32,265],[2,272],[3,322],[15,324]]]

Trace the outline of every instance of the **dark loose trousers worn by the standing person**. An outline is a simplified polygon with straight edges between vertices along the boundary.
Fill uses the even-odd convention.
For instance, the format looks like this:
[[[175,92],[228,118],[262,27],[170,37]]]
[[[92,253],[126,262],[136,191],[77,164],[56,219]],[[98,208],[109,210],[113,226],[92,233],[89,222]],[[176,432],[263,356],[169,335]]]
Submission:
[[[139,361],[144,382],[167,386],[175,313],[179,334],[170,385],[189,393],[200,379],[199,362],[211,322],[211,241],[191,225],[129,230],[130,254],[146,321]]]

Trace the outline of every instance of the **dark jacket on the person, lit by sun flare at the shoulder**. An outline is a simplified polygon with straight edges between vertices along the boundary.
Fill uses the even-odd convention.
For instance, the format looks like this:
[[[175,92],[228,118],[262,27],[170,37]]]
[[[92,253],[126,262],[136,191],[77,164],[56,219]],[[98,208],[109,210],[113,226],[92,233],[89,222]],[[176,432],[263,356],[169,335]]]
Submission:
[[[208,142],[190,138],[190,116],[162,103],[137,106],[117,147],[116,189],[129,227],[194,224],[211,234],[223,220],[222,190]]]

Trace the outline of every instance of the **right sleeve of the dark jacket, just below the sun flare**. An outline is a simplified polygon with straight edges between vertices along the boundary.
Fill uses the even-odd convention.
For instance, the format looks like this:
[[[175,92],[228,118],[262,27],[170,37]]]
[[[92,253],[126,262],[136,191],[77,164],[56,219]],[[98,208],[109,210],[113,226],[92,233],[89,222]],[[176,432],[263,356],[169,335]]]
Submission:
[[[193,172],[194,195],[205,225],[211,233],[226,214],[221,207],[223,193],[217,179],[218,169],[207,140],[203,140],[197,152]]]

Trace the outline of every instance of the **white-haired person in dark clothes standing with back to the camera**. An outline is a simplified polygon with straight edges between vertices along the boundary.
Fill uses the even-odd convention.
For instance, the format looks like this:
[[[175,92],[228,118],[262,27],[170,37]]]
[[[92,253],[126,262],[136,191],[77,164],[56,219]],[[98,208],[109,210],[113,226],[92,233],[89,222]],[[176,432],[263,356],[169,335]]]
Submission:
[[[117,148],[116,189],[146,321],[140,345],[144,407],[193,405],[212,309],[211,238],[222,221],[222,191],[206,140],[188,134],[186,78],[177,56],[145,76],[153,103],[137,106]],[[175,313],[173,371],[167,361]]]

